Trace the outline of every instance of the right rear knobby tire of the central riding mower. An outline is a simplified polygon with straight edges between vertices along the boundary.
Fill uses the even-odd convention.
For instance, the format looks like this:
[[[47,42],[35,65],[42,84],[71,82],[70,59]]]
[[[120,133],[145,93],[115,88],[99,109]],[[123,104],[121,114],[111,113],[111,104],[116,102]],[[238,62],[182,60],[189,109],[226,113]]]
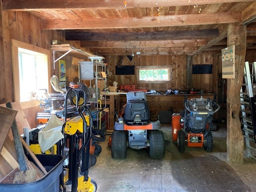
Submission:
[[[152,159],[162,159],[165,154],[164,134],[160,130],[149,131],[148,155]]]

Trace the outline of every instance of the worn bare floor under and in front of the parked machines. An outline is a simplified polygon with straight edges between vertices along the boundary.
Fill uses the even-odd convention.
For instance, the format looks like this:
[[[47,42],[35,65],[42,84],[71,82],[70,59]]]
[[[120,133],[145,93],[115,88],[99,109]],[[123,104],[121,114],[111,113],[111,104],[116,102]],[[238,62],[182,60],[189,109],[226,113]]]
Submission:
[[[97,192],[255,192],[256,161],[244,155],[244,164],[226,161],[226,126],[213,132],[213,152],[186,148],[172,142],[171,124],[161,124],[166,140],[162,160],[150,159],[146,149],[128,148],[127,158],[113,160],[109,136],[100,142],[102,152],[89,170]]]

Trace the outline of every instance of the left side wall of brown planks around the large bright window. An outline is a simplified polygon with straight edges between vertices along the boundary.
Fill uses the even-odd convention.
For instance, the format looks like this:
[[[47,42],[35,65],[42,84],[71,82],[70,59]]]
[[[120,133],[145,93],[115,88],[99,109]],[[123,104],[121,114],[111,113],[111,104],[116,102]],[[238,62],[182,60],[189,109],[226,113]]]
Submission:
[[[14,102],[13,80],[12,80],[12,51],[11,39],[32,44],[47,50],[50,50],[50,44],[53,39],[63,43],[70,43],[72,46],[80,48],[80,42],[68,42],[65,40],[62,30],[41,30],[40,20],[28,12],[7,12],[0,10],[0,104]],[[88,51],[88,49],[84,49]],[[57,55],[57,54],[56,54]],[[58,54],[59,55],[59,54]],[[78,80],[78,59],[71,56],[65,56],[66,60],[67,82]],[[53,69],[53,57],[51,56],[51,76],[58,74],[58,67]],[[58,66],[57,64],[55,64]],[[50,81],[50,79],[49,79]],[[29,85],[28,85],[29,86]],[[51,93],[56,93],[50,90]],[[36,116],[41,112],[40,107],[24,108],[31,128],[38,125]]]

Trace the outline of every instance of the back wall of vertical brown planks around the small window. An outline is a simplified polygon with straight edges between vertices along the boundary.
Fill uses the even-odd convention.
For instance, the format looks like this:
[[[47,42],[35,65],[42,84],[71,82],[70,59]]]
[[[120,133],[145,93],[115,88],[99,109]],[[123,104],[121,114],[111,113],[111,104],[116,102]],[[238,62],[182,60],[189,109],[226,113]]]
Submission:
[[[169,83],[139,83],[136,75],[115,75],[115,66],[118,64],[119,56],[104,56],[108,59],[108,70],[112,76],[108,78],[108,85],[113,86],[113,82],[120,85],[135,85],[136,89],[155,89],[157,92],[165,92],[166,89],[172,90],[191,90],[203,89],[213,91],[214,74],[193,74],[192,87],[186,87],[186,55],[161,55],[161,56],[134,56],[132,62],[128,58],[122,60],[122,65],[135,65],[135,70],[139,66],[171,66],[172,80]],[[192,56],[192,64],[213,64],[212,54],[201,54]]]

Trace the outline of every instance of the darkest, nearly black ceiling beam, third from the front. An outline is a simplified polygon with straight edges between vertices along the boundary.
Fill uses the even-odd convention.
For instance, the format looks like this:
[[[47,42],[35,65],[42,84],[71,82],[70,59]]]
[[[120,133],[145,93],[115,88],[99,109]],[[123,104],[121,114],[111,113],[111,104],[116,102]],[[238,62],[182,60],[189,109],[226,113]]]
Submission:
[[[219,35],[218,29],[159,31],[134,33],[73,33],[66,32],[66,40],[72,41],[151,41],[206,39]]]

